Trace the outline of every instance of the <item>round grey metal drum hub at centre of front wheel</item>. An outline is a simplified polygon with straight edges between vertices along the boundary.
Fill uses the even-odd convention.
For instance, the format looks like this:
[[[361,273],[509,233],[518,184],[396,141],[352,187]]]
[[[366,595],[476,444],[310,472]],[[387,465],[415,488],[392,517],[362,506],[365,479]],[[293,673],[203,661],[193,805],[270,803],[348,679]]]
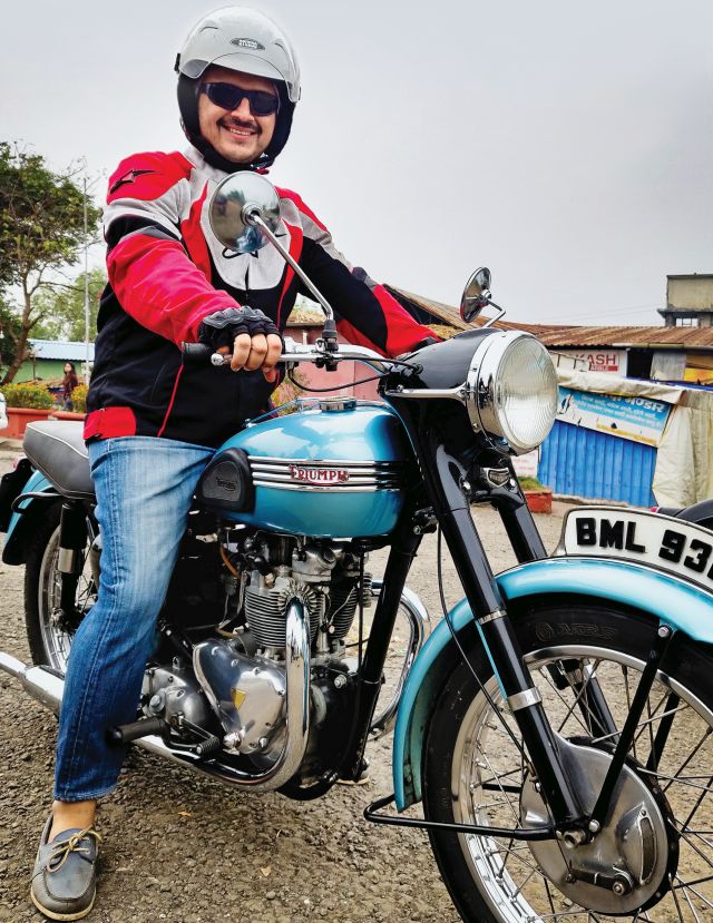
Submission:
[[[579,804],[590,814],[612,755],[561,737],[558,746]],[[538,789],[528,776],[520,797],[522,826],[549,823]],[[566,835],[529,847],[543,872],[569,900],[598,913],[625,914],[663,896],[677,843],[668,836],[665,799],[632,765],[624,765],[612,801],[606,822],[592,837]]]

